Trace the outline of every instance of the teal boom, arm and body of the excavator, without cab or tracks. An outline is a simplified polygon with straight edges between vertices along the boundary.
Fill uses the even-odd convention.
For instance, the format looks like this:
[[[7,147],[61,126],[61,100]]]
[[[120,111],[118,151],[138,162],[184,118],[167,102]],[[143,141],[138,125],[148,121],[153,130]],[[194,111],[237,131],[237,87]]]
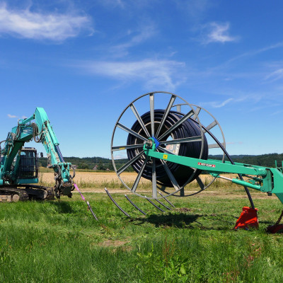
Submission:
[[[18,176],[21,149],[25,142],[30,141],[35,136],[32,121],[41,134],[41,142],[50,163],[49,167],[53,168],[54,172],[57,174],[57,189],[64,192],[64,195],[69,195],[73,189],[73,182],[70,175],[71,163],[64,162],[62,157],[60,158],[61,153],[58,152],[59,142],[43,108],[36,108],[33,115],[26,119],[19,120],[18,126],[13,127],[12,131],[8,133],[4,149],[1,151],[3,158],[0,164],[0,185],[38,183],[37,178],[21,179]]]

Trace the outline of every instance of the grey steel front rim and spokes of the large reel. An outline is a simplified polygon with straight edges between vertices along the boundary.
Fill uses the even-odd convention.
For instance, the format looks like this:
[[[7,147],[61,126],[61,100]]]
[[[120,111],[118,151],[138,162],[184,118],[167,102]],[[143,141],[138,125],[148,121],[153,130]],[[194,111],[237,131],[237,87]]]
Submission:
[[[166,108],[166,111],[164,112],[164,115],[163,115],[163,121],[161,121],[160,122],[160,125],[162,124],[162,127],[163,127],[163,125],[164,125],[164,122],[166,122],[166,119],[168,118],[168,114],[169,114],[169,112],[172,110],[172,108],[173,108],[173,103],[175,102],[175,99],[176,98],[178,98],[179,100],[181,100],[181,101],[183,101],[183,105],[187,105],[188,107],[189,107],[189,109],[190,109],[190,111],[189,112],[187,112],[187,114],[185,114],[185,116],[186,115],[190,115],[190,113],[192,113],[190,116],[188,116],[187,117],[187,119],[189,118],[189,117],[195,117],[195,120],[197,121],[197,126],[199,127],[199,129],[200,129],[200,139],[199,140],[197,140],[197,142],[200,142],[201,141],[201,149],[200,149],[200,156],[199,156],[199,158],[202,156],[202,154],[203,154],[203,151],[204,151],[204,132],[203,132],[203,130],[202,130],[202,124],[201,124],[201,122],[200,122],[200,119],[199,119],[199,117],[198,117],[198,114],[197,114],[197,112],[195,111],[195,109],[192,107],[192,105],[190,104],[190,103],[187,103],[187,101],[185,100],[185,99],[183,99],[183,98],[181,98],[180,96],[178,96],[178,95],[176,95],[176,94],[174,94],[174,93],[169,93],[169,92],[165,92],[165,91],[154,91],[154,92],[151,92],[151,93],[145,93],[144,95],[142,95],[142,96],[139,96],[138,98],[136,98],[135,100],[133,100],[131,103],[129,103],[129,105],[127,105],[127,107],[122,111],[122,113],[120,114],[120,116],[118,117],[118,119],[117,119],[117,122],[115,123],[115,127],[114,127],[114,129],[113,129],[113,132],[112,132],[112,139],[111,139],[111,158],[112,158],[112,165],[113,165],[113,168],[114,168],[114,170],[115,170],[115,173],[117,174],[117,177],[120,179],[120,181],[121,181],[121,183],[125,186],[125,187],[127,187],[127,189],[129,190],[129,191],[131,191],[131,192],[133,192],[133,190],[124,182],[124,180],[122,180],[122,178],[120,177],[120,174],[122,174],[129,166],[131,166],[132,165],[132,163],[134,163],[134,159],[136,158],[136,160],[138,160],[143,154],[144,154],[144,150],[142,150],[141,151],[141,154],[139,154],[139,156],[136,156],[135,158],[132,158],[128,163],[126,163],[127,164],[127,166],[126,166],[126,168],[124,168],[124,170],[122,170],[122,172],[120,172],[120,173],[118,173],[117,171],[120,171],[120,169],[123,167],[121,167],[121,168],[119,168],[118,170],[117,170],[117,168],[116,168],[116,164],[115,164],[115,158],[114,158],[114,156],[113,156],[113,152],[114,151],[120,151],[120,150],[125,150],[125,149],[129,149],[129,146],[113,146],[113,141],[114,141],[114,139],[115,139],[115,132],[116,132],[116,129],[117,129],[117,127],[119,127],[120,129],[123,129],[125,132],[127,132],[128,134],[130,134],[131,132],[131,129],[129,129],[129,128],[127,128],[125,125],[122,125],[122,124],[120,124],[120,120],[121,120],[121,118],[122,118],[122,116],[125,114],[125,112],[128,110],[128,109],[131,109],[132,110],[132,112],[134,112],[134,115],[137,117],[137,120],[141,120],[141,117],[139,116],[139,113],[137,112],[137,110],[134,108],[134,103],[135,102],[137,102],[137,100],[139,100],[139,99],[141,99],[141,98],[144,98],[144,97],[146,97],[146,96],[149,96],[149,107],[150,107],[150,113],[151,113],[151,135],[149,134],[149,137],[154,137],[155,135],[155,132],[154,132],[154,110],[155,110],[155,108],[154,108],[154,95],[156,94],[156,93],[162,93],[162,94],[166,94],[166,95],[169,95],[169,96],[171,96],[171,98],[170,98],[170,100],[169,100],[169,102],[168,102],[168,105],[167,105],[167,108]],[[133,110],[134,109],[134,110]],[[167,114],[166,114],[166,112],[167,112]],[[164,118],[165,117],[165,118]],[[181,120],[181,119],[180,119]],[[141,120],[141,122],[142,122],[142,120]],[[178,124],[178,123],[176,123],[176,124]],[[180,122],[180,125],[182,124],[182,122]],[[145,127],[145,125],[143,125],[144,127]],[[142,125],[141,125],[141,127],[143,127]],[[179,126],[179,125],[178,125]],[[177,126],[177,127],[178,127]],[[161,127],[161,128],[162,128]],[[159,132],[160,132],[160,129],[159,129],[159,126],[158,126],[158,134],[159,134]],[[171,130],[171,132],[173,132],[173,130]],[[152,133],[154,133],[154,134],[152,134]],[[134,132],[134,134],[138,134],[137,132]],[[139,135],[139,134],[138,134]],[[158,137],[161,137],[161,136],[158,136]],[[158,137],[156,137],[156,139],[158,139]],[[147,140],[146,138],[144,138],[144,137],[139,137],[139,139],[143,139],[143,140]],[[169,141],[168,141],[169,142]],[[184,142],[184,141],[183,141]],[[193,142],[193,141],[192,141]],[[141,144],[132,144],[131,145],[132,146],[132,148],[140,148],[140,147],[142,147],[143,146],[143,144],[141,145]],[[161,151],[163,151],[164,152],[164,149],[163,148],[160,148],[159,146],[158,146],[158,149],[159,150],[161,150]],[[156,163],[156,158],[153,158],[153,163]],[[147,163],[147,158],[145,158],[144,159],[144,161],[146,161],[145,163]],[[131,163],[132,162],[132,163]],[[155,166],[155,165],[154,165]],[[145,167],[145,166],[144,166]],[[196,174],[196,172],[197,172],[197,169],[196,168],[192,168],[192,174],[191,174],[191,176],[190,176],[190,178],[192,178],[192,176],[193,175],[195,175]],[[144,169],[141,171],[141,172],[139,172],[138,173],[138,175],[137,175],[137,178],[136,178],[136,180],[134,181],[134,184],[137,182],[137,186],[136,186],[136,189],[137,189],[137,187],[138,187],[138,185],[139,185],[139,181],[141,180],[141,176],[139,176],[139,175],[142,175],[142,173],[143,173],[143,171],[144,171]],[[166,172],[167,173],[167,172]],[[152,174],[152,175],[154,175],[154,174]],[[169,179],[171,180],[171,177],[170,176],[168,176],[169,177]],[[154,176],[152,176],[152,179],[151,179],[151,183],[152,183],[152,190],[151,190],[151,197],[149,197],[149,196],[146,196],[146,195],[140,195],[139,193],[137,193],[136,192],[136,190],[134,190],[134,194],[135,195],[138,195],[139,197],[144,197],[144,198],[149,198],[149,199],[162,199],[162,198],[164,198],[164,197],[168,197],[168,196],[170,196],[170,195],[175,195],[177,192],[180,192],[180,190],[182,190],[183,189],[183,186],[182,187],[178,187],[178,189],[176,190],[176,188],[175,188],[175,192],[170,192],[170,193],[168,193],[168,192],[165,192],[167,195],[165,195],[165,196],[162,196],[162,197],[158,197],[157,196],[157,189],[158,189],[158,187],[157,187],[157,183],[156,183],[156,177],[155,177],[155,180],[153,180],[154,179]],[[133,185],[134,186],[134,185]],[[159,190],[161,190],[160,188],[159,188]],[[162,190],[163,191],[163,190]],[[164,192],[164,191],[163,191]]]

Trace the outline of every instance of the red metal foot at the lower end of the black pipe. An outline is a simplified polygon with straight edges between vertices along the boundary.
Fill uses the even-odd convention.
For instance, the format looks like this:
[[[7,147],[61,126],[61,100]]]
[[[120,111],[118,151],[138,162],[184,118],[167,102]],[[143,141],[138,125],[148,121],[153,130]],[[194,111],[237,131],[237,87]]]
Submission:
[[[251,227],[258,229],[258,209],[250,207],[243,207],[243,212],[236,221],[234,229],[246,229]]]

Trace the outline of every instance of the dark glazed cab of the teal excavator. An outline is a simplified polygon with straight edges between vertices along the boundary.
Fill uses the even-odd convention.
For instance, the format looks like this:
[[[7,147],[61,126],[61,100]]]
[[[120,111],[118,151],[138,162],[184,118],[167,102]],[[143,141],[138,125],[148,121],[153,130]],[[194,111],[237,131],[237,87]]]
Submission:
[[[30,179],[38,177],[38,157],[35,148],[23,148],[21,150],[19,178]]]

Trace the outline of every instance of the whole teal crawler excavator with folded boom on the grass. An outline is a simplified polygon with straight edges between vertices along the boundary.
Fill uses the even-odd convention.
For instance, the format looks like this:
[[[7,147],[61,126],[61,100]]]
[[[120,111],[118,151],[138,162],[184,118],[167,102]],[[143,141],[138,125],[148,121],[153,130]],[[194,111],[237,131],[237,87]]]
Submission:
[[[32,140],[41,142],[45,148],[47,167],[54,170],[54,187],[35,185],[39,179],[37,151],[33,147],[24,147],[25,142]],[[43,108],[36,108],[32,116],[18,120],[18,125],[0,142],[0,154],[0,202],[50,200],[60,195],[71,197],[74,166],[64,162],[59,142]]]

